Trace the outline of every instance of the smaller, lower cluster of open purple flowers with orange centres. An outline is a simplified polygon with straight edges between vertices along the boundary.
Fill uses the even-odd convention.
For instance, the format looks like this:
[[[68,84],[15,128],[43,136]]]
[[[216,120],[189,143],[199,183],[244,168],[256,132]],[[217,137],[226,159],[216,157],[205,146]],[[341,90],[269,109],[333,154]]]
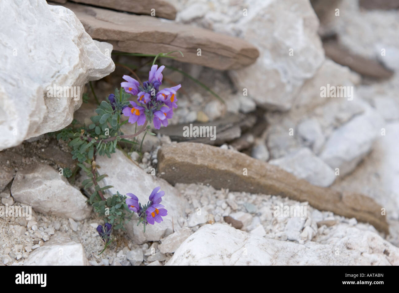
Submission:
[[[168,211],[166,208],[164,208],[165,206],[160,205],[162,197],[165,195],[164,191],[159,191],[160,188],[160,186],[154,188],[150,194],[150,197],[148,198],[148,203],[144,206],[138,202],[136,195],[132,193],[126,193],[126,195],[130,197],[129,199],[126,199],[126,205],[128,205],[129,210],[132,210],[138,214],[138,224],[142,222],[144,224],[144,228],[146,224],[154,225],[155,222],[162,222],[162,217],[168,215]]]

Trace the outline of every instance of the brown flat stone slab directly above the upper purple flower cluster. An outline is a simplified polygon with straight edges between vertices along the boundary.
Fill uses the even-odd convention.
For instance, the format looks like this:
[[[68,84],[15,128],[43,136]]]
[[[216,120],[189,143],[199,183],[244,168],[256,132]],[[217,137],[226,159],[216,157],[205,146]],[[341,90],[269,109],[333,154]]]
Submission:
[[[180,50],[184,57],[174,53],[176,60],[219,70],[245,67],[259,56],[247,41],[207,29],[72,2],[64,6],[76,14],[93,39],[111,43],[116,51],[158,54]]]

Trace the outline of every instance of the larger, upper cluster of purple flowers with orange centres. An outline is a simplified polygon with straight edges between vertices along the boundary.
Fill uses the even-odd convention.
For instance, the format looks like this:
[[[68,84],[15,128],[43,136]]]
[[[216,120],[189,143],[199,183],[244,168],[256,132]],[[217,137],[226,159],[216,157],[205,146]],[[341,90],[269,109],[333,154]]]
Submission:
[[[137,125],[143,125],[146,120],[153,119],[156,129],[168,126],[168,119],[173,116],[173,108],[177,108],[176,91],[182,87],[176,85],[171,88],[159,90],[162,84],[162,70],[165,66],[158,68],[158,65],[152,65],[148,81],[142,85],[132,77],[124,75],[126,82],[120,83],[120,86],[130,94],[137,95],[137,102],[130,101],[132,108],[126,107],[122,110],[124,116],[129,117],[129,123],[137,122]]]

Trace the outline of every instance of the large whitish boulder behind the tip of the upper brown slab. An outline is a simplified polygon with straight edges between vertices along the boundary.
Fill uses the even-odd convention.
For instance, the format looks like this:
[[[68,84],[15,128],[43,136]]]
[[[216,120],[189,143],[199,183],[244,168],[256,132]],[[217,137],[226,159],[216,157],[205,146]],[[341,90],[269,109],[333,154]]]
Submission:
[[[246,88],[244,98],[258,106],[290,109],[300,87],[324,61],[319,21],[308,0],[178,2],[177,21],[241,37],[258,47],[254,64],[229,71],[237,90]]]

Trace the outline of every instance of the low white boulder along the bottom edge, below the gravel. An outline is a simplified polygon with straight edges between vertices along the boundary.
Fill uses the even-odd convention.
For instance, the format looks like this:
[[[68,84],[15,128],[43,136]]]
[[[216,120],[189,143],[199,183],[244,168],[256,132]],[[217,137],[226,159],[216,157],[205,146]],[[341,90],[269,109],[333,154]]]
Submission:
[[[378,234],[340,226],[323,244],[266,239],[226,224],[207,224],[166,265],[398,265],[399,248]]]

